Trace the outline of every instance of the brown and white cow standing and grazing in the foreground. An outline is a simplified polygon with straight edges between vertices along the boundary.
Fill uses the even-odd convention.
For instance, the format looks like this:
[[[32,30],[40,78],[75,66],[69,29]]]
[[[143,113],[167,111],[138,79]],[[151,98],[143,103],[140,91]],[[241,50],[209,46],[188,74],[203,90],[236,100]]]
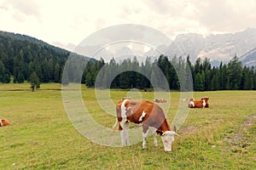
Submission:
[[[130,122],[143,126],[143,148],[146,148],[149,127],[153,132],[154,145],[157,146],[157,133],[161,135],[165,151],[172,150],[172,142],[176,133],[176,127],[171,131],[166,121],[164,111],[159,105],[145,100],[124,99],[116,105],[117,121],[113,129],[119,123],[119,132],[123,146],[129,145],[129,124]]]

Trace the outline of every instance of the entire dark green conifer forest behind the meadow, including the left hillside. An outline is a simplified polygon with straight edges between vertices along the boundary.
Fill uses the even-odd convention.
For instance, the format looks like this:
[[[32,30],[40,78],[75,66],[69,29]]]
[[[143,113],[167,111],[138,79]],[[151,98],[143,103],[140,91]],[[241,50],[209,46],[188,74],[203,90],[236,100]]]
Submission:
[[[32,74],[36,73],[40,82],[61,83],[69,54],[67,50],[55,48],[36,38],[0,31],[0,82],[29,82]],[[228,64],[220,63],[218,67],[212,66],[207,58],[198,58],[192,64],[189,56],[184,59],[160,55],[154,62],[147,57],[141,63],[136,57],[119,62],[113,58],[108,63],[103,59],[84,57],[84,60],[87,65],[81,82],[87,87],[94,87],[98,78],[102,81],[100,88],[152,88],[152,81],[161,83],[154,72],[154,68],[158,67],[165,75],[169,88],[173,90],[181,89],[177,72],[186,81],[189,80],[189,75],[186,75],[188,69],[191,71],[195,91],[256,89],[255,67],[243,66],[236,56]],[[79,63],[73,62],[74,70],[76,65]],[[115,75],[116,72],[119,74]],[[68,82],[79,81],[79,78],[74,77],[67,79]]]

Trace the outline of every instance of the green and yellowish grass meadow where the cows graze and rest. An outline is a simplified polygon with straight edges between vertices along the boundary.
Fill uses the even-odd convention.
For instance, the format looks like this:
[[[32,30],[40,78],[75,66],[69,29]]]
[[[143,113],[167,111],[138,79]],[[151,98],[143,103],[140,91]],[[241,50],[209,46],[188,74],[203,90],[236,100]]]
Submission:
[[[181,137],[166,153],[160,136],[158,147],[150,136],[144,150],[142,142],[124,148],[95,144],[69,121],[60,84],[41,84],[36,92],[29,87],[0,84],[0,118],[11,123],[0,127],[0,169],[256,169],[256,91],[195,92],[195,99],[210,98],[210,108],[189,111],[177,131]],[[94,89],[83,87],[82,94],[96,122],[111,128],[115,117],[102,111]],[[154,99],[153,92],[141,94]],[[114,102],[126,95],[111,90]],[[171,92],[168,122],[179,103],[180,93]]]

